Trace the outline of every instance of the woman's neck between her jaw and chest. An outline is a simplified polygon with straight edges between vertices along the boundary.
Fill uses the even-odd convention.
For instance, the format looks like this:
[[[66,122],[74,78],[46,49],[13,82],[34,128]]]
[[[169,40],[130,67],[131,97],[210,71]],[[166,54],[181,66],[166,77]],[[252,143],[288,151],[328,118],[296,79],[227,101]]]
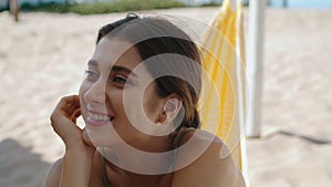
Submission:
[[[108,166],[126,176],[160,175],[170,169],[173,153],[167,136],[103,148]],[[136,174],[136,175],[135,175]]]

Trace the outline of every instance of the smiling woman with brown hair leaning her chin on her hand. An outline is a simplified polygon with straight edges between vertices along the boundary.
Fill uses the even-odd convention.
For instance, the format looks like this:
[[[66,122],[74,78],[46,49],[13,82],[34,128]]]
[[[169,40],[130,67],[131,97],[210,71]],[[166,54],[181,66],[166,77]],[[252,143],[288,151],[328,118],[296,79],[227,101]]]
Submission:
[[[79,96],[51,115],[65,154],[46,187],[245,186],[231,156],[220,157],[222,142],[198,129],[201,60],[185,32],[129,13],[96,43]]]

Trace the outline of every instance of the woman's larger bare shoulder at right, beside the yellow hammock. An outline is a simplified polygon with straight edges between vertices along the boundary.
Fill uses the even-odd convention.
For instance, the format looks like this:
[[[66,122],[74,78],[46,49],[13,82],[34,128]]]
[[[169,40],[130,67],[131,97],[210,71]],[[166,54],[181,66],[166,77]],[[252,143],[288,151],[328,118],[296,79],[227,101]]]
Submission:
[[[190,131],[176,160],[172,187],[245,187],[226,145],[215,135]]]

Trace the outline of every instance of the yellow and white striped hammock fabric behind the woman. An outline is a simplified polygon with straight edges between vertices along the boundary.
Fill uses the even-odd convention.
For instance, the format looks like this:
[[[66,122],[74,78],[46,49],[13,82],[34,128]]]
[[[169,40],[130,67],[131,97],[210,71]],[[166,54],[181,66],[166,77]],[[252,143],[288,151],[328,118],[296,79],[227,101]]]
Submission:
[[[224,1],[205,33],[201,53],[205,71],[214,85],[204,85],[200,115],[203,129],[217,134],[226,143],[237,166],[245,173],[243,21],[242,4],[240,1],[231,4],[234,1]]]

